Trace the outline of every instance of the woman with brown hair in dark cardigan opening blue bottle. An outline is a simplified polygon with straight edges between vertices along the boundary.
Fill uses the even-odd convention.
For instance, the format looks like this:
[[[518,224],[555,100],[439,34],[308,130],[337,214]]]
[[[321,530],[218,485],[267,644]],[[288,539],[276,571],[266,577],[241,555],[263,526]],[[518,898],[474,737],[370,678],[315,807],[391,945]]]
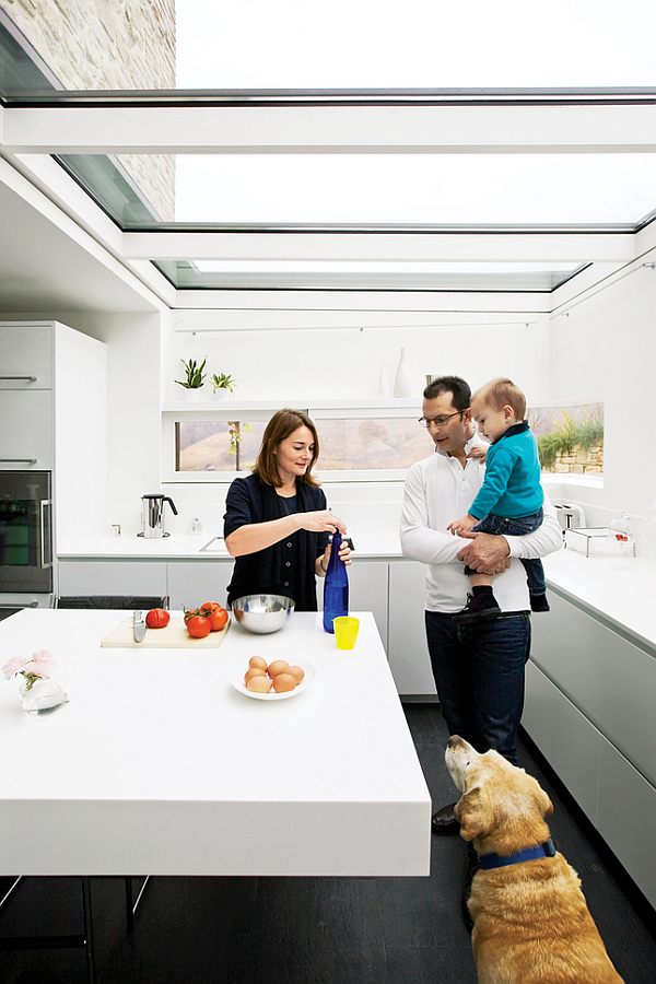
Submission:
[[[312,476],[319,440],[300,410],[279,410],[262,437],[254,473],[235,479],[225,501],[223,535],[236,558],[227,604],[244,595],[293,598],[297,611],[316,611],[315,575],[326,576],[328,535],[345,534]],[[340,557],[350,564],[350,549]]]

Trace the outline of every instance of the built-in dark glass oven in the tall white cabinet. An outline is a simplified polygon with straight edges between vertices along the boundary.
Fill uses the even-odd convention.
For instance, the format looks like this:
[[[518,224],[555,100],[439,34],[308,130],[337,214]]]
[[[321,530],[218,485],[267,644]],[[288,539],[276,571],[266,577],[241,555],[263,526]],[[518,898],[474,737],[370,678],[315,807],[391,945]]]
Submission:
[[[0,591],[52,590],[52,476],[0,471]]]

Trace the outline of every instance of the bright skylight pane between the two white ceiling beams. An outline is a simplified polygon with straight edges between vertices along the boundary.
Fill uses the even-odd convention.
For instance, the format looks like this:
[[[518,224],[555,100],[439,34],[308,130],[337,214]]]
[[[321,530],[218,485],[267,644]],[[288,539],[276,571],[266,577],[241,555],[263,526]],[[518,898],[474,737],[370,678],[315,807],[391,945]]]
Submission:
[[[635,226],[656,154],[186,155],[176,222]]]

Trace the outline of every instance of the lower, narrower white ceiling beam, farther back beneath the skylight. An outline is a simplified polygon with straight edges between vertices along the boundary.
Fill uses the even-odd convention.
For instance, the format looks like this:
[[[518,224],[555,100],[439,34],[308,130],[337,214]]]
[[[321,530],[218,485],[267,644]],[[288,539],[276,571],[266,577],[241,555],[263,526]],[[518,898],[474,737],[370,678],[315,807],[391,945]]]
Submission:
[[[633,233],[124,233],[124,259],[626,262]]]

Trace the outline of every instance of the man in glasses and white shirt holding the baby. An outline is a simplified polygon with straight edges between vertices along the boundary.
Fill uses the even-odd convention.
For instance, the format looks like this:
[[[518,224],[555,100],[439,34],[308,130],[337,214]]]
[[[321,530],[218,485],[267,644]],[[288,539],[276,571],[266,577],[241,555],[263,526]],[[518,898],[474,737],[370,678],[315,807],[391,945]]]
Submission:
[[[544,557],[562,546],[555,512],[544,501],[544,519],[522,537],[472,532],[453,536],[447,526],[468,512],[484,478],[471,391],[458,376],[442,376],[424,390],[421,422],[437,454],[413,465],[406,478],[401,513],[405,557],[429,565],[426,637],[442,713],[450,735],[484,752],[490,748],[516,764],[517,728],[524,707],[524,667],[530,649],[530,601],[519,558]],[[501,614],[473,624],[454,622],[467,601],[467,564],[499,574],[494,594]],[[433,830],[458,829],[455,804],[433,817]]]

